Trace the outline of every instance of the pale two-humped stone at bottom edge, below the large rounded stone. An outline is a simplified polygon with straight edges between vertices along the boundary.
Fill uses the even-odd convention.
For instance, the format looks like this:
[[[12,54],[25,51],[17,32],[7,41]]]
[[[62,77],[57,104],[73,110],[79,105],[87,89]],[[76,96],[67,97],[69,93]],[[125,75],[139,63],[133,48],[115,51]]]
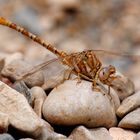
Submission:
[[[72,140],[112,140],[106,128],[87,129],[84,126],[78,126],[70,134]]]

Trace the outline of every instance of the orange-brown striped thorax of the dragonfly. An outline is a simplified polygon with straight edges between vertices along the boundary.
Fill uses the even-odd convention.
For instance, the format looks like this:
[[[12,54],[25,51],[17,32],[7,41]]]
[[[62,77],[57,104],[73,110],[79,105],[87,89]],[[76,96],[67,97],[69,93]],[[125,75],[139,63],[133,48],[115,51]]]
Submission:
[[[90,79],[95,78],[102,66],[92,50],[72,53],[64,57],[63,62],[70,66],[76,73],[81,73]]]

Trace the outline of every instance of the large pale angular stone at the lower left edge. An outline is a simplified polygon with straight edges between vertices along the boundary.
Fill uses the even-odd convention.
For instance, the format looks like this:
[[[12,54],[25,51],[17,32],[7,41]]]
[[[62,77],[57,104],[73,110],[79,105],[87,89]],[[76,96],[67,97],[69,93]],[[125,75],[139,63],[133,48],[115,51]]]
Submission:
[[[2,82],[0,82],[0,112],[8,115],[9,124],[14,128],[33,136],[40,134],[43,124],[26,98]]]

